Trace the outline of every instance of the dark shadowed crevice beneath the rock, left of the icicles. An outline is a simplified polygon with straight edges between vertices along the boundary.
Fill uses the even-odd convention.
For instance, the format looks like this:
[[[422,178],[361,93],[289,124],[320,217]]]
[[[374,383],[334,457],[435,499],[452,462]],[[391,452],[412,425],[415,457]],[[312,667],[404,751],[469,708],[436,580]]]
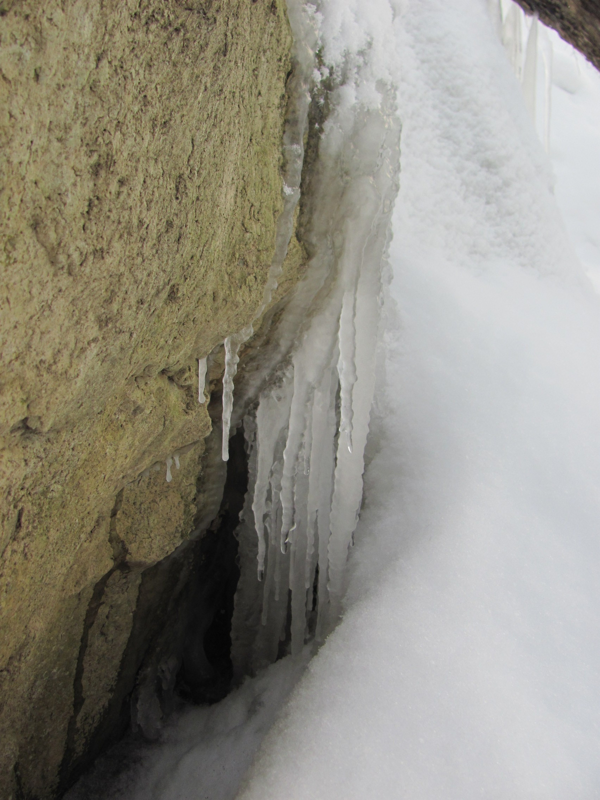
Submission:
[[[213,402],[216,406],[218,399],[213,398]],[[75,757],[77,717],[85,700],[82,673],[88,632],[94,625],[110,575],[116,569],[130,571],[123,560],[126,558],[124,544],[113,535],[114,524],[111,525],[110,542],[115,558],[121,561],[94,586],[88,605],[75,676],[74,714],[69,725],[58,796],[73,786],[94,760],[116,745],[128,730],[133,737],[130,735],[119,746],[124,750],[134,746],[136,738],[158,738],[166,718],[178,704],[210,704],[230,691],[233,676],[231,618],[239,578],[238,542],[234,531],[248,485],[243,430],[240,428],[230,438],[226,470],[220,450],[221,429],[215,425],[206,440],[202,473],[198,477],[198,517],[191,538],[161,562],[143,571],[130,638],[110,703],[86,742],[84,753]],[[121,502],[122,494],[115,502],[114,517]],[[212,522],[207,529],[206,514],[210,513],[211,506],[214,509]],[[134,575],[133,570],[131,574]],[[127,759],[123,758],[122,766],[126,763]],[[87,780],[85,775],[81,785]],[[92,778],[90,781],[93,784]],[[82,797],[96,796],[91,790],[92,784]]]

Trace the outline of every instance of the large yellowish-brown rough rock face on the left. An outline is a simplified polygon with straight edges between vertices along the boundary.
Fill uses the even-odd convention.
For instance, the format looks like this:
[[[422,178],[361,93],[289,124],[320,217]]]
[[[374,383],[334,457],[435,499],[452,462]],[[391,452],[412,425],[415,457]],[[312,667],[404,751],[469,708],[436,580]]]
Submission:
[[[102,744],[218,510],[196,359],[262,300],[290,44],[279,0],[0,0],[2,798]]]

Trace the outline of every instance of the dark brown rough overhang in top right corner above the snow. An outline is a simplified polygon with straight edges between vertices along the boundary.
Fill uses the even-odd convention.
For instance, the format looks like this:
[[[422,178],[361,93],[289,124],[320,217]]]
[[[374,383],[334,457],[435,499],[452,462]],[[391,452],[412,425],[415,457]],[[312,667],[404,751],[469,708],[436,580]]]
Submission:
[[[600,4],[598,0],[517,0],[527,14],[539,14],[600,70]]]

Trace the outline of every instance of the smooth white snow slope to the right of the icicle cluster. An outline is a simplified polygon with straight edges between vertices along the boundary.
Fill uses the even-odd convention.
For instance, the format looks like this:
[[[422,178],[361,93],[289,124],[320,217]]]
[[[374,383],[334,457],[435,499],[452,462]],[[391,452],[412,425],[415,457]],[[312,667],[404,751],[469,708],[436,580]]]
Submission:
[[[394,35],[402,186],[346,614],[238,797],[591,800],[600,76],[550,34],[554,197],[484,3],[398,2]],[[187,711],[110,796],[234,798],[301,671]]]

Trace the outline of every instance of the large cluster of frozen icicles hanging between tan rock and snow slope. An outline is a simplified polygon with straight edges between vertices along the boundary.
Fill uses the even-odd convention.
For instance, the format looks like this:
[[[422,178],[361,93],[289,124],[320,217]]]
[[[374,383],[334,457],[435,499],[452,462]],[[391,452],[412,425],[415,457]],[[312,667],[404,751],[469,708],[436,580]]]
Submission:
[[[289,3],[288,10],[297,41],[314,42],[311,7],[307,13],[306,6]],[[314,75],[308,55],[310,61],[305,48],[302,69]],[[382,262],[398,189],[393,98],[379,84],[378,102],[347,102],[348,83],[354,81],[350,89],[355,91],[364,62],[346,61],[338,84],[332,86],[330,79],[330,114],[319,141],[305,234],[310,264],[261,355],[261,370],[254,370],[263,377],[254,384],[245,380],[246,394],[236,400],[238,418],[245,413],[249,455],[248,491],[236,534],[241,577],[232,658],[238,674],[273,662],[286,636],[292,653],[298,653],[307,638],[324,638],[338,618],[362,500]],[[322,86],[317,83],[313,92],[322,93]],[[294,137],[287,143],[297,154],[308,111],[305,87],[302,94],[306,105],[298,104]],[[296,175],[285,183],[296,187],[302,160],[292,163]],[[286,243],[293,210],[290,205],[284,220]],[[275,272],[281,270],[285,249],[274,261]],[[232,372],[234,366],[232,359]],[[270,376],[266,382],[264,375]],[[225,427],[224,412],[223,458]]]

